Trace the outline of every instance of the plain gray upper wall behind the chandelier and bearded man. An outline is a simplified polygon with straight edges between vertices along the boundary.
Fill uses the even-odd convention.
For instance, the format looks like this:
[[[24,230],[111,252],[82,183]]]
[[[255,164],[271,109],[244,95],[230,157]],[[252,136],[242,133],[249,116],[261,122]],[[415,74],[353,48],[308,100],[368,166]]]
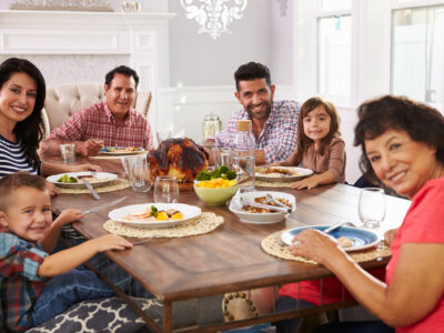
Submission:
[[[171,85],[231,85],[234,71],[249,61],[269,65],[274,83],[291,85],[292,9],[281,17],[279,6],[250,0],[243,18],[230,24],[232,34],[213,40],[208,33],[198,34],[198,23],[186,19],[179,0],[169,0],[169,11],[178,14],[169,28]]]

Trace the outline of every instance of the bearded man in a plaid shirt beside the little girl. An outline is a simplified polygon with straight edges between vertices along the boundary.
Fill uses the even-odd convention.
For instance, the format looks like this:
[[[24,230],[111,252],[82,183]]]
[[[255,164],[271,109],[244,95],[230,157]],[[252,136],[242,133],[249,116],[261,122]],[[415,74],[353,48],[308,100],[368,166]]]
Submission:
[[[234,93],[243,110],[235,112],[220,133],[210,138],[219,147],[231,149],[236,133],[236,121],[250,119],[256,139],[256,164],[285,160],[296,148],[297,115],[301,107],[294,101],[273,101],[274,84],[270,70],[256,62],[241,65],[234,73]]]

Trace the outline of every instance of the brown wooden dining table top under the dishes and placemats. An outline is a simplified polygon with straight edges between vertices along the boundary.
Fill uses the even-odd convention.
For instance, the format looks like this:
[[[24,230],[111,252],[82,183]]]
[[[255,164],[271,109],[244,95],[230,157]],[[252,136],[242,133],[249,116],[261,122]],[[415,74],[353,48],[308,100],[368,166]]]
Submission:
[[[102,165],[103,171],[121,173],[119,161],[99,161],[98,164]],[[164,302],[329,275],[323,266],[285,261],[266,254],[261,249],[261,241],[270,233],[300,225],[333,224],[340,221],[359,223],[360,189],[335,184],[302,191],[269,190],[287,192],[296,198],[296,210],[285,222],[266,225],[243,223],[228,206],[206,205],[196,198],[194,191],[183,190],[180,193],[181,203],[198,205],[203,212],[222,215],[224,223],[208,234],[154,239],[131,250],[108,251],[107,255]],[[67,208],[85,210],[123,195],[129,195],[125,204],[148,203],[153,202],[152,192],[135,193],[127,189],[101,193],[101,201],[93,200],[90,194],[61,194],[52,200],[52,204],[59,211]],[[408,205],[407,200],[387,196],[383,229],[400,225]],[[111,209],[88,214],[82,221],[75,222],[74,228],[87,238],[105,234],[102,225]],[[380,268],[386,261],[375,260],[363,266]]]

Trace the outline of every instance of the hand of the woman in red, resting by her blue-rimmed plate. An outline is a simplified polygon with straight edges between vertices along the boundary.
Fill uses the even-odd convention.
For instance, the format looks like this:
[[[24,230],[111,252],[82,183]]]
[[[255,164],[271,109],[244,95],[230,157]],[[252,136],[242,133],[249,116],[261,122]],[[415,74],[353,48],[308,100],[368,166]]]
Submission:
[[[311,259],[324,265],[335,255],[345,253],[332,236],[314,229],[297,233],[293,242],[294,244],[289,246],[293,255]]]

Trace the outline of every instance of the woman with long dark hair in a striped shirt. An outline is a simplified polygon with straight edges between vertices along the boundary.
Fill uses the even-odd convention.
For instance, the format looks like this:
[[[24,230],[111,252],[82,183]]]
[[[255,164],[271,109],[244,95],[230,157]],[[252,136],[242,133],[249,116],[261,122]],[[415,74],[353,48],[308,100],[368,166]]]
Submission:
[[[10,58],[0,64],[0,176],[17,171],[50,175],[69,171],[99,171],[91,164],[64,165],[41,162],[41,110],[46,84],[40,71],[26,59]]]

